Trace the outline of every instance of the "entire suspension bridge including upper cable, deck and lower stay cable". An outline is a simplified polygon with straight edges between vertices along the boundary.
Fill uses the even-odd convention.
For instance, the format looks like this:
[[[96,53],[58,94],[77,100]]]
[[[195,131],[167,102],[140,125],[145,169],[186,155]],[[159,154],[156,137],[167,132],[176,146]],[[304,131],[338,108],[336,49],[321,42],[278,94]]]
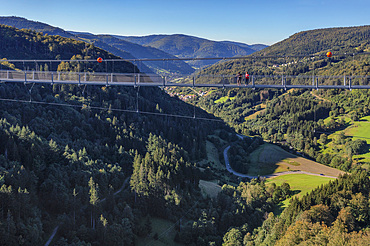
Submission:
[[[370,52],[362,52],[360,54],[337,54],[340,59],[343,57],[351,56],[355,59],[357,55],[368,55]],[[304,63],[307,61],[314,61],[316,58],[326,59],[325,54],[316,55],[298,55],[298,56],[263,56],[263,57],[214,57],[214,58],[176,58],[176,59],[112,59],[103,60],[98,58],[97,60],[0,60],[0,83],[3,85],[11,83],[23,83],[28,90],[29,99],[20,98],[0,98],[0,101],[14,102],[14,103],[33,103],[40,105],[51,105],[51,106],[68,106],[68,107],[89,107],[90,109],[97,110],[108,110],[106,107],[98,107],[92,105],[79,105],[66,104],[58,102],[46,102],[46,101],[35,101],[32,98],[32,88],[37,84],[49,84],[49,85],[78,85],[83,88],[83,92],[86,86],[129,86],[137,88],[136,93],[136,105],[133,109],[121,109],[121,108],[109,108],[112,111],[126,112],[126,113],[140,113],[149,114],[156,116],[166,116],[166,117],[177,117],[186,119],[199,119],[199,120],[210,120],[210,121],[222,121],[221,119],[215,118],[204,118],[196,115],[195,105],[193,110],[193,115],[177,115],[177,114],[167,114],[160,112],[146,112],[141,111],[139,108],[139,89],[141,87],[215,87],[215,88],[252,88],[252,89],[370,89],[370,76],[356,75],[353,72],[350,75],[317,75],[316,70],[313,69],[306,73],[305,75],[287,75],[284,74],[285,69],[281,69],[280,75],[260,75],[260,74],[250,74],[249,79],[245,78],[242,81],[237,82],[237,75],[215,75],[215,74],[205,74],[194,73],[191,75],[181,75],[174,73],[165,73],[164,75],[158,75],[154,73],[143,73],[135,71],[137,64],[144,63],[147,61],[159,61],[168,62],[176,60],[232,60],[232,59],[252,59],[253,61],[263,60],[263,59],[280,59],[278,64],[282,67],[287,67],[290,64]],[[300,60],[301,59],[301,60]],[[306,61],[304,61],[304,59]],[[117,73],[114,69],[116,64],[119,62],[131,62],[134,64],[133,73]],[[330,60],[329,60],[330,61]],[[56,71],[59,64],[62,62],[74,64],[75,68],[78,65],[82,66],[81,72],[63,72]],[[101,64],[103,63],[103,64]],[[99,66],[100,70],[104,67],[105,72],[85,72],[88,66]],[[111,63],[111,71],[108,72]],[[12,66],[13,64],[13,66]],[[49,64],[48,68],[54,71],[39,71],[41,67]],[[94,65],[95,64],[95,65]],[[101,66],[102,65],[102,66]],[[22,69],[23,68],[23,69]],[[139,66],[137,68],[140,68]],[[48,69],[49,70],[49,69]],[[309,75],[307,75],[309,74]],[[30,85],[30,87],[28,86]]]

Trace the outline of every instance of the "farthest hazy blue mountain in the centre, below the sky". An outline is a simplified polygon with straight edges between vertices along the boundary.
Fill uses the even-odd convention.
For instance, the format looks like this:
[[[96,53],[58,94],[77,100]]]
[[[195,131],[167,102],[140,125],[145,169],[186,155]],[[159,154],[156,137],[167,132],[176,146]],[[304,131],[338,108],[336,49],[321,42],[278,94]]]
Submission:
[[[132,43],[154,47],[180,58],[246,56],[267,47],[264,45],[251,46],[229,41],[211,41],[183,34],[115,37]],[[199,68],[215,62],[217,60],[195,61],[191,64]]]

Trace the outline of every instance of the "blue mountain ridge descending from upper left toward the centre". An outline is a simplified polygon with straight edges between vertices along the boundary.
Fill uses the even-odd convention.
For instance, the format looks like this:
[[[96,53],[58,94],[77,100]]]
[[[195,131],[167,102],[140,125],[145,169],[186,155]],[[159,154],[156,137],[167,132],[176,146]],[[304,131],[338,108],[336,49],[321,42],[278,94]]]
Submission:
[[[59,35],[66,38],[73,38],[88,43],[94,43],[96,47],[104,49],[124,59],[149,58],[149,59],[175,59],[176,57],[152,47],[144,47],[117,39],[111,35],[95,35],[87,32],[65,31],[45,23],[27,20],[21,17],[0,17],[0,24],[12,26],[18,29],[31,29],[48,35]],[[194,71],[183,61],[166,62],[143,62],[137,64],[141,71],[146,73],[180,73],[190,74]]]

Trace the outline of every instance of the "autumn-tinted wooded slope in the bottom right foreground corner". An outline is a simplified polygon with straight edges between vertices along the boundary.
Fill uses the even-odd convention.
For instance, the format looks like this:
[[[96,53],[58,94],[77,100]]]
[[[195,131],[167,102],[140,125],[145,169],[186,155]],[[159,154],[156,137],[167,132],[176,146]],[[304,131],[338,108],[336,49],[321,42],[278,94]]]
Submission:
[[[345,175],[266,215],[253,233],[230,230],[224,245],[368,245],[369,185],[366,173]]]

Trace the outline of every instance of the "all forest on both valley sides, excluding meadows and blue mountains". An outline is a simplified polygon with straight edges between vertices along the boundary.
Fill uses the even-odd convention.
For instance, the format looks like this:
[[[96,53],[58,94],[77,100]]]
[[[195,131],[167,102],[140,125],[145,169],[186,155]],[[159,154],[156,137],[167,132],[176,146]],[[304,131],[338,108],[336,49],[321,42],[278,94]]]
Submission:
[[[367,29],[347,31],[363,35],[349,42],[353,47],[338,41],[335,49],[366,51]],[[344,30],[332,31],[325,30],[338,40],[346,37]],[[286,44],[298,46],[300,35]],[[283,45],[261,52],[284,53]],[[315,47],[306,52],[321,51]],[[119,59],[93,44],[0,26],[1,70],[138,71],[129,62],[114,68],[83,62],[97,57]],[[24,65],[6,61],[11,59],[70,61]],[[320,74],[370,71],[366,56],[335,59],[298,63],[291,73],[309,73],[313,67]],[[204,72],[233,73],[251,67],[247,62],[216,64]],[[263,71],[254,65],[255,73],[280,73],[269,66],[274,62],[266,60]],[[222,97],[233,100],[214,103]],[[368,150],[366,141],[338,136],[330,141],[343,150],[320,152],[328,132],[346,127],[344,116],[356,120],[370,114],[368,91],[220,89],[190,102],[197,107],[161,88],[1,83],[0,244],[43,245],[55,229],[53,245],[161,242],[165,235],[153,233],[152,218],[173,223],[176,245],[368,244],[368,170],[352,158]],[[154,115],[163,112],[168,116]],[[170,116],[193,114],[212,120]],[[235,132],[256,137],[237,142]],[[348,174],[291,199],[280,215],[276,208],[293,195],[287,183],[221,175],[222,189],[210,198],[199,183],[216,173],[197,163],[207,156],[207,141],[219,150],[225,147],[219,139],[237,142],[231,161],[242,173],[248,162],[243,153],[268,141]]]

